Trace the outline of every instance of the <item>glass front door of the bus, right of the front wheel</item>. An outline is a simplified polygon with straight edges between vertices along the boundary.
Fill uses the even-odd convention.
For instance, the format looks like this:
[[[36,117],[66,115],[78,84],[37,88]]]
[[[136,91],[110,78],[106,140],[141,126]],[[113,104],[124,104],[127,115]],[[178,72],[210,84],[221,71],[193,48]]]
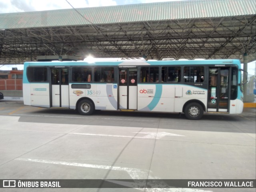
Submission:
[[[230,78],[229,67],[209,67],[209,112],[229,112]]]

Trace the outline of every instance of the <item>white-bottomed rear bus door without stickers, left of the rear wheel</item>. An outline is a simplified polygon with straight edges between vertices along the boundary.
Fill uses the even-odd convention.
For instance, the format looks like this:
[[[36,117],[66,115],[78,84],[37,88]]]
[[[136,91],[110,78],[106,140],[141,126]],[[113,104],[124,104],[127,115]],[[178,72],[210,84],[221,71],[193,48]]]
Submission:
[[[51,107],[69,107],[68,68],[51,69]]]

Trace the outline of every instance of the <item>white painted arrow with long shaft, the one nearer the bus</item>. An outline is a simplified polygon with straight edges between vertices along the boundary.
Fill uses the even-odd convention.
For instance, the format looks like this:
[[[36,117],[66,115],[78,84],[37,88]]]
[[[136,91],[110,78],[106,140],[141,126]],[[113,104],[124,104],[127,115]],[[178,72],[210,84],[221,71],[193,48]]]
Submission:
[[[91,136],[101,136],[101,137],[124,137],[124,138],[135,138],[135,139],[161,139],[165,136],[181,136],[185,137],[184,135],[177,135],[173,133],[167,132],[132,132],[132,133],[142,133],[147,134],[143,137],[139,136],[126,136],[126,135],[105,135],[105,134],[94,134],[94,133],[69,133],[70,135],[91,135]]]

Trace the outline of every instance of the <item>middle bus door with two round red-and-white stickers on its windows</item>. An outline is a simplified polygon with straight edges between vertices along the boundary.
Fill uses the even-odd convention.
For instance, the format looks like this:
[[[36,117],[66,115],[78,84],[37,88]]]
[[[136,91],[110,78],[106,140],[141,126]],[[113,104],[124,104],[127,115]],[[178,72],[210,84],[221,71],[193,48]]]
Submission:
[[[137,109],[137,69],[119,69],[119,109]]]

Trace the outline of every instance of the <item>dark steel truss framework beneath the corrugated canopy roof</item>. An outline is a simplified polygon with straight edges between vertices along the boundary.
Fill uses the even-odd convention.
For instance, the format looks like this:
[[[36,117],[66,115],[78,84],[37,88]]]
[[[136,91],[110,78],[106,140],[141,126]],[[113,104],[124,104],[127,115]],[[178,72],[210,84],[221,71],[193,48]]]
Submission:
[[[38,55],[242,59],[256,57],[256,15],[0,30],[0,64]]]

